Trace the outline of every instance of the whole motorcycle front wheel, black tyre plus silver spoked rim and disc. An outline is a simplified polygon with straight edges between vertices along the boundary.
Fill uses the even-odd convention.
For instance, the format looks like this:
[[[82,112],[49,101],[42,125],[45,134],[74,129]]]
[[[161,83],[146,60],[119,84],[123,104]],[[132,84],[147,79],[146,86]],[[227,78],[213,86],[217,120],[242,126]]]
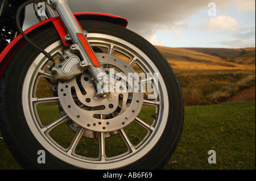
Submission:
[[[158,83],[152,76],[148,81],[158,95],[132,92],[127,93],[126,100],[125,93],[119,94],[119,100],[126,100],[127,106],[117,103],[118,113],[109,118],[110,115],[101,114],[102,108],[86,107],[86,111],[100,113],[82,119],[86,124],[78,124],[79,118],[71,119],[77,108],[68,112],[68,104],[74,96],[80,100],[80,96],[89,95],[88,88],[84,89],[87,94],[79,94],[84,86],[80,81],[89,74],[51,85],[47,68],[51,62],[25,44],[1,79],[0,125],[7,147],[24,169],[162,169],[174,153],[183,128],[183,98],[174,71],[158,50],[136,33],[105,22],[82,20],[80,24],[88,31],[89,43],[105,69],[115,66],[122,73],[127,69],[133,73],[158,73]],[[39,32],[32,40],[56,60],[68,49],[54,27]],[[141,78],[139,83],[143,81],[146,79]],[[65,98],[61,91],[71,82],[80,84],[81,89],[75,93],[67,89],[73,93]],[[116,106],[115,94],[112,95],[113,100],[108,99],[112,104],[108,102],[106,110]],[[135,98],[137,102],[133,101]],[[98,98],[90,102],[99,99],[105,101]],[[75,99],[74,102],[73,107],[85,106]],[[130,107],[132,112],[128,112]],[[120,123],[114,121],[118,119]],[[118,127],[121,123],[123,126]],[[45,153],[43,163],[38,161],[42,158],[39,150]]]

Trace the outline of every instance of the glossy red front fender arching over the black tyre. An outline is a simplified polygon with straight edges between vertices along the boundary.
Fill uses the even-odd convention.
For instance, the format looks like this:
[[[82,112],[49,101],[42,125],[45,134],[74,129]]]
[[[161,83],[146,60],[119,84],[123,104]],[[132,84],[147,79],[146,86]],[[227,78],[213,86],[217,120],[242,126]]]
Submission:
[[[127,20],[125,18],[121,18],[119,16],[109,15],[109,14],[102,14],[98,12],[76,12],[73,14],[75,18],[79,20],[100,20],[104,22],[109,22],[113,24],[118,24],[122,27],[127,27]],[[60,22],[59,16],[46,19],[42,22],[39,22],[35,24],[34,26],[28,28],[24,33],[27,35],[30,33],[31,35],[34,35],[35,32],[42,30],[41,28],[44,28],[44,26],[52,26],[52,24],[56,27],[56,30],[58,31],[61,40],[63,40],[63,43],[67,45],[64,41],[64,36],[67,35],[67,32],[65,31],[65,28]],[[0,78],[2,77],[3,72],[5,71],[5,68],[7,64],[9,64],[11,58],[14,56],[14,54],[18,51],[22,45],[26,43],[24,39],[22,39],[21,35],[18,35],[7,47],[1,52],[0,54]]]

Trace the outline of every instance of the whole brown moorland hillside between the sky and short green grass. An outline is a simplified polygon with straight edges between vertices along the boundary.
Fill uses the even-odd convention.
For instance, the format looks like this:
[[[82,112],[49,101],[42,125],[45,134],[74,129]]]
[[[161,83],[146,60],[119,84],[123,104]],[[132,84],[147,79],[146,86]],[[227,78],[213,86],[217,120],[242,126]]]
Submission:
[[[255,100],[255,48],[156,48],[174,69],[185,105]]]

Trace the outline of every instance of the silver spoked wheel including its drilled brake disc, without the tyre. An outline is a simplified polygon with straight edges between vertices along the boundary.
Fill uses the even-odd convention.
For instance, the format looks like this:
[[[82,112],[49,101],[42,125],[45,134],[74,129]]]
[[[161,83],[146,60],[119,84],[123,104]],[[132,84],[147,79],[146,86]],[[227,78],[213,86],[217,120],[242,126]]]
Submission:
[[[117,37],[97,33],[89,33],[88,40],[92,47],[101,51],[97,56],[107,72],[113,67],[115,71],[119,73],[121,71],[125,75],[136,71],[151,73],[147,74],[151,77],[147,76],[139,83],[143,85],[150,82],[154,92],[152,94],[134,91],[130,93],[126,91],[125,94],[114,92],[105,98],[95,98],[89,74],[84,73],[71,81],[60,81],[57,86],[57,96],[40,98],[38,91],[40,86],[44,85],[40,81],[42,78],[49,79],[47,65],[50,62],[47,62],[43,56],[38,56],[28,70],[27,81],[23,85],[24,112],[35,137],[57,158],[83,169],[116,169],[143,157],[159,140],[168,115],[168,103],[164,102],[163,97],[166,99],[168,95],[160,76],[158,76],[159,85],[154,85],[153,75],[159,70],[152,66],[154,64],[150,62],[150,58],[137,47]],[[55,54],[57,58],[61,55],[62,48],[61,43],[56,42],[46,50],[51,51],[51,54]],[[86,94],[82,92],[83,90]],[[56,91],[52,90],[52,92]],[[152,99],[156,93],[158,96]],[[56,109],[56,106],[61,110],[60,117],[47,120],[50,123],[43,123],[42,119],[45,118],[39,112],[44,107],[47,110],[47,107]],[[146,120],[138,116],[143,109],[151,110],[152,113],[147,115],[149,118],[144,118]],[[63,127],[63,123],[72,130],[68,134],[67,142],[61,140],[67,135],[51,134],[53,130],[61,129],[59,127]],[[81,142],[86,138],[93,139],[93,141],[89,140],[92,142],[90,145],[86,145],[92,148],[85,148],[92,153],[84,154],[82,151],[84,145]],[[110,138],[113,140],[108,140],[108,148],[106,148],[106,140]],[[117,142],[119,146],[115,145]],[[114,152],[111,153],[109,148],[120,150],[111,150]]]

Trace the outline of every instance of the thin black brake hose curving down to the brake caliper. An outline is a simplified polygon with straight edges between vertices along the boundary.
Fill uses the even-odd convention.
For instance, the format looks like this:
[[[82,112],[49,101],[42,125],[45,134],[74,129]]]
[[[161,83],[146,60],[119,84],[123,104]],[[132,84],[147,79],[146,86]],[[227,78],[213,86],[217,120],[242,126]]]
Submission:
[[[24,37],[24,39],[27,40],[28,43],[30,43],[33,47],[35,47],[36,49],[38,49],[40,52],[42,52],[49,60],[52,61],[53,63],[53,66],[55,66],[55,60],[53,59],[53,57],[51,56],[51,54],[49,54],[48,52],[46,52],[46,50],[40,48],[38,45],[36,45],[32,40],[30,40],[27,35],[23,32],[22,30],[22,27],[20,25],[20,14],[22,12],[22,10],[24,9],[24,7],[26,7],[27,5],[31,4],[31,3],[36,3],[38,2],[38,0],[30,0],[30,1],[27,1],[25,3],[23,3],[17,13],[16,13],[16,25],[17,25],[17,28],[18,28],[18,31],[20,32],[20,35],[22,35],[22,37]]]

